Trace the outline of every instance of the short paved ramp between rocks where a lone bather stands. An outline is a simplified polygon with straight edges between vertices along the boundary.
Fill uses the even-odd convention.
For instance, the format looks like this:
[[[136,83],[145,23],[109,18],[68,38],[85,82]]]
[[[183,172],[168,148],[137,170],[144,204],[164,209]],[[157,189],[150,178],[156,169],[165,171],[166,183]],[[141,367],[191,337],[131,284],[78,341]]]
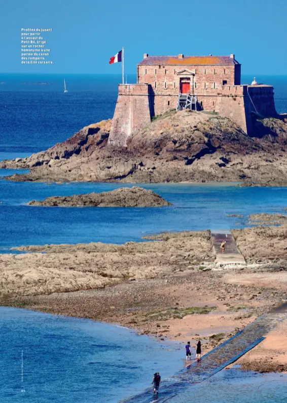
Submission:
[[[222,241],[226,241],[225,253],[222,253],[222,250],[220,249]],[[245,264],[245,259],[237,249],[231,233],[211,233],[211,242],[216,254],[215,263]]]

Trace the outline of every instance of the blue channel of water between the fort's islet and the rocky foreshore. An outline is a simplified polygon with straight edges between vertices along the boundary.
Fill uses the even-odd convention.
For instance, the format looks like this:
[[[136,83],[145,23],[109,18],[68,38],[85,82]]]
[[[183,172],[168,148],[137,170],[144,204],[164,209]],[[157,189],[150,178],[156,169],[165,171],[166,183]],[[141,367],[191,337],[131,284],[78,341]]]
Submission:
[[[4,174],[6,170],[3,171]],[[0,173],[1,175],[1,173]],[[229,230],[248,225],[247,215],[284,212],[287,188],[236,184],[148,184],[173,206],[159,208],[43,208],[27,206],[52,195],[102,192],[131,184],[29,183],[0,180],[0,250],[19,245],[141,241],[160,231]],[[228,217],[242,214],[244,217]]]

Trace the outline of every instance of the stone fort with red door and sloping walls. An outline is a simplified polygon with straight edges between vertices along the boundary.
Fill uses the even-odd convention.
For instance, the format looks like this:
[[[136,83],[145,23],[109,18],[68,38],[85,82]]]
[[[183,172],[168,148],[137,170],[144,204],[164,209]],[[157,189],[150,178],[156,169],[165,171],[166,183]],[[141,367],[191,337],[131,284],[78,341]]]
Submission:
[[[248,135],[253,116],[276,116],[273,87],[241,84],[241,64],[230,56],[150,56],[137,64],[137,83],[119,84],[109,146],[127,138],[170,109],[218,112]]]

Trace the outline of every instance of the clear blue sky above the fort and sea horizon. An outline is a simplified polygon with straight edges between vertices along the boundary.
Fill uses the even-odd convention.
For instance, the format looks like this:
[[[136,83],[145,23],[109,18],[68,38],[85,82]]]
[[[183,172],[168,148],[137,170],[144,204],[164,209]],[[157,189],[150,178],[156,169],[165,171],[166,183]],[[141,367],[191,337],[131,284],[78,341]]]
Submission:
[[[0,0],[0,72],[112,73],[143,53],[229,55],[243,74],[287,74],[287,0]],[[21,65],[21,28],[46,27],[53,65]]]

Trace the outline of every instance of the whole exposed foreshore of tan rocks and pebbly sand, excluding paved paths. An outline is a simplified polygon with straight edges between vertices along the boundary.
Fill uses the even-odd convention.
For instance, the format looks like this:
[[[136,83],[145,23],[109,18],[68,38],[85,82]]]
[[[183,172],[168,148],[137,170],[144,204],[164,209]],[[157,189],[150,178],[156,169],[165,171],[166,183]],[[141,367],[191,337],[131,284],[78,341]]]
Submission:
[[[283,225],[271,229],[282,238]],[[287,299],[285,252],[278,251],[273,263],[264,256],[271,229],[240,230],[239,249],[248,240],[261,248],[251,256],[241,247],[247,265],[228,270],[214,264],[209,231],[164,233],[125,245],[21,247],[30,253],[0,255],[0,302],[118,323],[176,340],[183,350],[200,339],[204,354]],[[242,357],[242,368],[286,371],[286,326],[280,323]]]

